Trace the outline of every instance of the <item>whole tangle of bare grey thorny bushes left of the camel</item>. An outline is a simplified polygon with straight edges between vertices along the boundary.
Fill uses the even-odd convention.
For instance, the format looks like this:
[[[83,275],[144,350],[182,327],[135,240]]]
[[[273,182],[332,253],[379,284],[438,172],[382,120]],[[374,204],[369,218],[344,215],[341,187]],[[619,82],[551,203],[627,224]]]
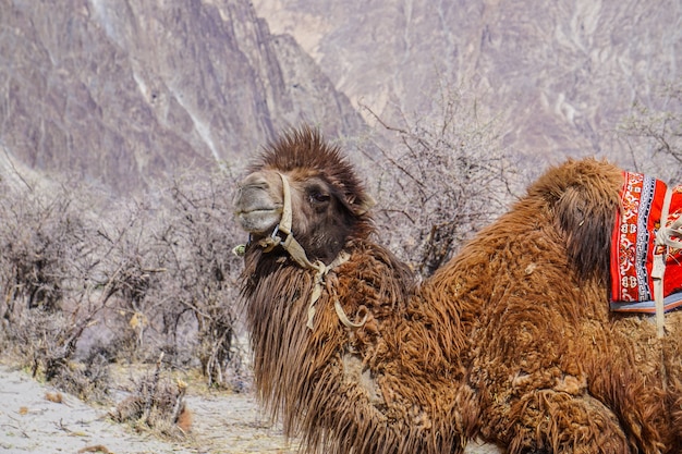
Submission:
[[[0,179],[4,355],[83,397],[106,395],[111,361],[161,352],[245,386],[227,176],[197,172],[144,203]]]

